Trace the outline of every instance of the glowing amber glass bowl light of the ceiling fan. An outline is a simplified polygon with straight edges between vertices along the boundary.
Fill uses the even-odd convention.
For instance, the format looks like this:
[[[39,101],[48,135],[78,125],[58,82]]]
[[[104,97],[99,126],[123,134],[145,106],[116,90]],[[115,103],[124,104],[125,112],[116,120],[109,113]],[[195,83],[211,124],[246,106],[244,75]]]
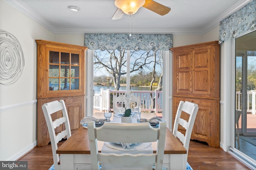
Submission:
[[[125,14],[135,14],[140,7],[145,4],[145,0],[115,0],[115,5]]]

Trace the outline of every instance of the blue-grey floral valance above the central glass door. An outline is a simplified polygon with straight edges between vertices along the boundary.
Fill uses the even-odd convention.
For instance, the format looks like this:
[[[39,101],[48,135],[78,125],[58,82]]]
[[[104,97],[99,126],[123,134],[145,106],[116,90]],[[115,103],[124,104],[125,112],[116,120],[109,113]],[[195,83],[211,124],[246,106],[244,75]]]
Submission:
[[[163,50],[172,48],[172,34],[105,34],[86,33],[84,46],[91,50]]]

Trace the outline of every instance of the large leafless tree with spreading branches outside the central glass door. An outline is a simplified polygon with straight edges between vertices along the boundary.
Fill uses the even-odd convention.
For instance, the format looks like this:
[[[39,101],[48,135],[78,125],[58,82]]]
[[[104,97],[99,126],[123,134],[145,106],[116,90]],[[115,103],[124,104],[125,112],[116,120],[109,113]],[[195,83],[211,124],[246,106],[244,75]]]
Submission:
[[[150,51],[131,51],[130,73],[150,69],[150,63],[154,62],[154,53]],[[120,88],[121,76],[127,74],[126,71],[127,57],[126,51],[94,51],[94,70],[104,68],[111,75],[115,90]]]

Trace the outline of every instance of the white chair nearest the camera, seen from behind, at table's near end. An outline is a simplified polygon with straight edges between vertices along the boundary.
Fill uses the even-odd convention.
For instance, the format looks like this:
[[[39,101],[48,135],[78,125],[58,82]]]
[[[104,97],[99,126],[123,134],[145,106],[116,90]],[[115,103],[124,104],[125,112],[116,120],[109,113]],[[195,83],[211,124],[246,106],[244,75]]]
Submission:
[[[149,123],[111,123],[105,122],[96,128],[95,122],[88,122],[88,136],[92,158],[92,169],[100,170],[100,163],[117,166],[142,166],[155,164],[156,170],[162,170],[166,123],[160,122],[159,128]],[[112,143],[148,143],[158,141],[156,153],[116,154],[98,152],[97,141]],[[152,169],[152,168],[151,168]]]

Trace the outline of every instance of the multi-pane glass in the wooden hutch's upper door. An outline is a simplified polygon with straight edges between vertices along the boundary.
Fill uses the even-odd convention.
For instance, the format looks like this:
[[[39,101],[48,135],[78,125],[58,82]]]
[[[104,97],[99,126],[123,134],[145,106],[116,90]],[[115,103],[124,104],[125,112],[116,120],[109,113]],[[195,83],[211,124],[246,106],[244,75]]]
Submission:
[[[79,90],[80,54],[49,50],[49,91]]]

